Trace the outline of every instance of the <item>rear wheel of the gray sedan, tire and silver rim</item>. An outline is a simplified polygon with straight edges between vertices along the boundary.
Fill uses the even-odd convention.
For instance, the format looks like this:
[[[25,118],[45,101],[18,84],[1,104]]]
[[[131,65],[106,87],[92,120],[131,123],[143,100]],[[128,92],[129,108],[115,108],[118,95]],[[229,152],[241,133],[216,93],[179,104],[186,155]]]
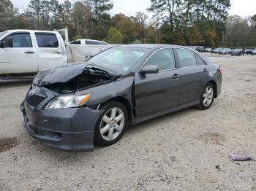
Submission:
[[[211,93],[209,90],[211,90]],[[197,108],[201,110],[209,109],[214,103],[214,94],[214,85],[212,83],[208,83],[206,87],[203,88],[203,91],[200,94],[200,104],[197,106]]]

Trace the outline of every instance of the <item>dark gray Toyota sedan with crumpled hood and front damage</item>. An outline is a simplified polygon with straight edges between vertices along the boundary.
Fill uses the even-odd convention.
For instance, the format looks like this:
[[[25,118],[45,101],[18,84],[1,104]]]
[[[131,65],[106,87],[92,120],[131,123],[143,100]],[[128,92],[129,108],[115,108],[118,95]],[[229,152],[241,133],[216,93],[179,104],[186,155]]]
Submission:
[[[92,151],[116,143],[129,125],[191,106],[209,109],[222,69],[195,50],[121,45],[85,63],[40,71],[20,105],[28,133],[44,144]]]

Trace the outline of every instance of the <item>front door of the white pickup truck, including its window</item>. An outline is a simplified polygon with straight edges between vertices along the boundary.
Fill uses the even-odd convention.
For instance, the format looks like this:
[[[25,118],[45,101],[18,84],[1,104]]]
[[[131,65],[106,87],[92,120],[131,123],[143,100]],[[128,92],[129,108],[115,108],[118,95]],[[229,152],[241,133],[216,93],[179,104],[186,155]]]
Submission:
[[[13,47],[0,49],[0,74],[37,72],[37,52],[29,33],[11,34]]]

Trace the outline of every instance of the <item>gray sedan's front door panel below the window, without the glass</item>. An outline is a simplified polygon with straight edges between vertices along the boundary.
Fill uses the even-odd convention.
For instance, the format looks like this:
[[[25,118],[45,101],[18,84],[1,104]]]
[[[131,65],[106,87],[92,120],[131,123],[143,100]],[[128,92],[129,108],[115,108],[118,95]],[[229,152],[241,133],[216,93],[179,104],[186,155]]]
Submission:
[[[178,106],[181,79],[174,79],[178,70],[135,76],[136,117]]]

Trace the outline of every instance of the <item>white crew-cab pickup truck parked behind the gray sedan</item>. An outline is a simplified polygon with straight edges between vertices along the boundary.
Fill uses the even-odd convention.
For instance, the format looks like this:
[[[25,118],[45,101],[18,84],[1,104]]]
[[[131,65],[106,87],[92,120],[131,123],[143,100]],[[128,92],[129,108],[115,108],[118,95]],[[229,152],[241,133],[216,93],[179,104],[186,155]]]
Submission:
[[[0,33],[0,79],[31,78],[38,71],[86,61],[109,45],[65,42],[58,31],[10,30]]]

